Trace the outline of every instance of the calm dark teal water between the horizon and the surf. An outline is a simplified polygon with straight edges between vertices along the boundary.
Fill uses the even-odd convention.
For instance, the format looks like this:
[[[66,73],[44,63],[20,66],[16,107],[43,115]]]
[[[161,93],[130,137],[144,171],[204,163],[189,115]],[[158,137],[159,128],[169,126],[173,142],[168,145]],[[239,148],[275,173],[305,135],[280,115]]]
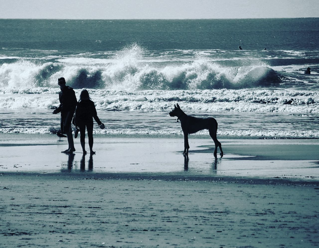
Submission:
[[[58,52],[146,50],[317,50],[319,18],[201,20],[0,20],[5,49]],[[25,51],[21,51],[23,54]],[[19,53],[17,51],[17,53]]]

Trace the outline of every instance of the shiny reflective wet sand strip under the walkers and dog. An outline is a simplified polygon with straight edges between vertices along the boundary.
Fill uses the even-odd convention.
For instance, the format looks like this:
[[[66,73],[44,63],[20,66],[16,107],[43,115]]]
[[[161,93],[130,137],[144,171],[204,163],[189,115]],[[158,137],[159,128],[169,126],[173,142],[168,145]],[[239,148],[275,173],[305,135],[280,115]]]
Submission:
[[[10,138],[11,135],[8,135]],[[8,137],[7,136],[7,137]],[[0,173],[38,173],[118,179],[319,181],[319,140],[220,139],[224,156],[213,156],[211,139],[182,137],[94,136],[96,154],[63,154],[67,142],[52,135],[13,135],[0,141]],[[30,139],[33,137],[33,139]],[[86,146],[88,146],[86,144]]]

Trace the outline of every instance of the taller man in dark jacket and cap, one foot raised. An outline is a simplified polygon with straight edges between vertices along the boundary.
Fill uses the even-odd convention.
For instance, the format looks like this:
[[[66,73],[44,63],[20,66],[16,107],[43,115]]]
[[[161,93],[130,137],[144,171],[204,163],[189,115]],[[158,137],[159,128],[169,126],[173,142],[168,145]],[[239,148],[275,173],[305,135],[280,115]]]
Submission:
[[[69,148],[64,153],[72,153],[75,151],[71,122],[74,115],[75,108],[77,106],[77,98],[74,90],[65,85],[64,77],[58,79],[58,85],[60,86],[59,101],[60,106],[52,113],[57,114],[61,112],[61,133],[66,134],[68,137]]]

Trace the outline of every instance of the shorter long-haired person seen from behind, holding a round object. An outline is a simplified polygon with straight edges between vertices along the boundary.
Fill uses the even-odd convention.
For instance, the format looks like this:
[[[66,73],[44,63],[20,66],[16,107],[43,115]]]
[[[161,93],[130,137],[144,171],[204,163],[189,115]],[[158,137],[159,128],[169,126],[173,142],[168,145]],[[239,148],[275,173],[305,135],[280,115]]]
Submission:
[[[85,151],[85,128],[87,131],[87,137],[89,139],[90,153],[95,154],[93,149],[93,118],[100,126],[101,129],[104,128],[104,124],[100,121],[96,113],[96,108],[94,102],[91,101],[89,92],[83,89],[80,93],[80,98],[75,109],[74,115],[74,125],[80,131],[80,143],[82,146],[83,154]]]

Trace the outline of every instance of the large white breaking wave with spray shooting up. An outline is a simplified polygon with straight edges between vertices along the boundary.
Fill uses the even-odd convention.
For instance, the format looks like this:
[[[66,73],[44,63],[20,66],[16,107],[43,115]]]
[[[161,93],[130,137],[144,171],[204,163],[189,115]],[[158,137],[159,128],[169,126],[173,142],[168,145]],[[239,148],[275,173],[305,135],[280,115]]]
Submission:
[[[281,83],[280,75],[265,64],[221,66],[207,58],[163,62],[145,56],[133,45],[111,59],[65,58],[42,63],[19,59],[0,66],[0,87],[58,87],[65,77],[74,89],[194,90],[244,89]]]

